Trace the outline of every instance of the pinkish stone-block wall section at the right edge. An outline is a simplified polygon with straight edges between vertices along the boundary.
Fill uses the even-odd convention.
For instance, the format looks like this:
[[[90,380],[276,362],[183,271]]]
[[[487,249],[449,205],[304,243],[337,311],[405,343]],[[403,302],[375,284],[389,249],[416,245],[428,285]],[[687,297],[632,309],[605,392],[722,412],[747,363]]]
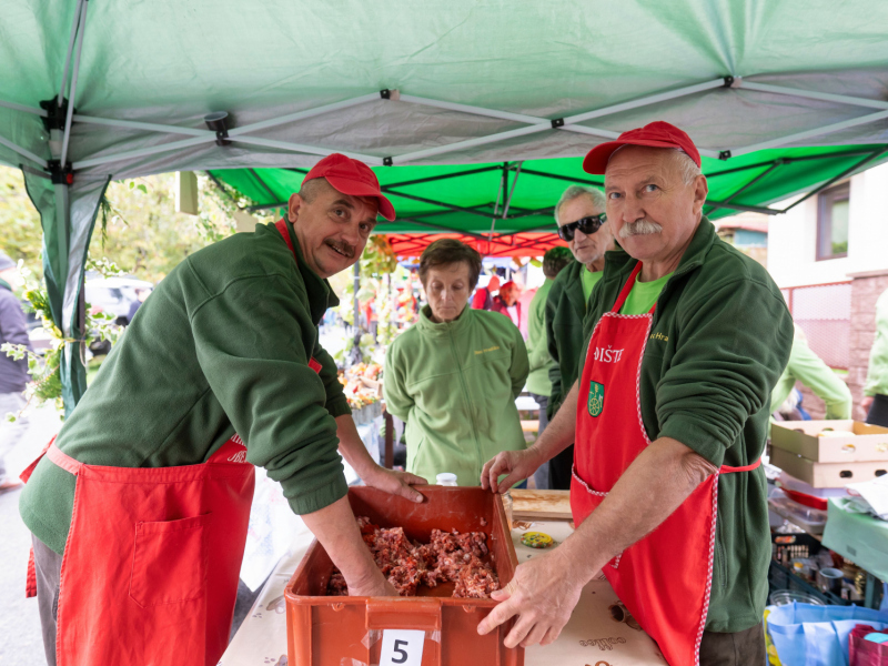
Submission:
[[[869,271],[849,273],[851,282],[851,334],[850,364],[848,367],[848,387],[854,397],[852,416],[862,421],[860,401],[864,397],[864,384],[869,367],[869,350],[876,336],[876,300],[888,290],[888,271]],[[807,398],[806,398],[807,402]]]

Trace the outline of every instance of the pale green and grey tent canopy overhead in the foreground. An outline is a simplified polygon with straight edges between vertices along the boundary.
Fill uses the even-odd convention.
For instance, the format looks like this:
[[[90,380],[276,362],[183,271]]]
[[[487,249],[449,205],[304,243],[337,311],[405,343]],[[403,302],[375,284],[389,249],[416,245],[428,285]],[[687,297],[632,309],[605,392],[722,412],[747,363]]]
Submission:
[[[0,16],[0,162],[24,172],[53,319],[72,339],[111,179],[307,169],[334,151],[517,174],[654,119],[725,169],[761,150],[888,142],[888,6],[867,0],[11,0]],[[759,186],[776,184],[736,201],[769,200]],[[529,199],[508,208],[553,201]],[[85,389],[74,344],[62,381],[71,410]]]

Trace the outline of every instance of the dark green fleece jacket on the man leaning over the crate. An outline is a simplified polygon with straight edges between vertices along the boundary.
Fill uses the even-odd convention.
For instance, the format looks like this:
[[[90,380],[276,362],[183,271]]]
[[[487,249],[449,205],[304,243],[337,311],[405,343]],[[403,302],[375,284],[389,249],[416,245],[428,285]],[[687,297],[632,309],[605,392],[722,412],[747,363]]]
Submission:
[[[335,303],[273,224],[195,252],[139,309],[59,448],[93,465],[193,465],[236,432],[295,513],[332,504],[347,492],[334,417],[350,408],[317,323]],[[57,553],[74,481],[44,457],[19,503],[28,528]]]

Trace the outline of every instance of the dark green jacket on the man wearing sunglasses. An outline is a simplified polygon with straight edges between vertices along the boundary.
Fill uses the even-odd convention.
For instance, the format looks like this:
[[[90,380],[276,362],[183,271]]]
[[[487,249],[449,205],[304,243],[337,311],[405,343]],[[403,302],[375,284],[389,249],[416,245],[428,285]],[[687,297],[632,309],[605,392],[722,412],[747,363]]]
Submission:
[[[552,283],[546,297],[546,342],[553,364],[548,370],[552,394],[548,417],[553,418],[576,382],[579,354],[583,352],[583,320],[586,299],[583,295],[583,271],[578,261],[565,266]]]

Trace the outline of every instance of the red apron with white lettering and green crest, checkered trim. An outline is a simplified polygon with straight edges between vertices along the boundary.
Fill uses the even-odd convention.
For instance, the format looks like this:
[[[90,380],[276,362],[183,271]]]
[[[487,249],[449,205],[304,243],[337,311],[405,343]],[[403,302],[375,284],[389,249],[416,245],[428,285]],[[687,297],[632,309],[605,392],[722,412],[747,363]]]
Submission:
[[[595,326],[579,379],[571,508],[579,525],[650,444],[642,421],[642,359],[653,322],[619,314],[642,263]],[[755,470],[722,467],[654,532],[604,567],[604,575],[672,666],[699,664],[709,607],[718,476]]]

